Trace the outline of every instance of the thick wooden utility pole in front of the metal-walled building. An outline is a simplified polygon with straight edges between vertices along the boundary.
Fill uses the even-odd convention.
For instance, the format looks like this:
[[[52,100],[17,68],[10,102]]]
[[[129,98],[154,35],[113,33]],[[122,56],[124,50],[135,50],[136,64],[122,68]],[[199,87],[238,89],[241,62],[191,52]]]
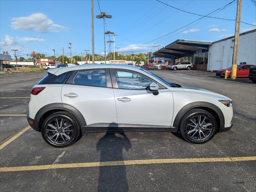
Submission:
[[[233,51],[233,61],[232,61],[232,77],[231,77],[232,80],[236,79],[241,9],[242,9],[242,0],[238,0],[237,10],[236,10],[236,31],[235,31],[234,51]]]

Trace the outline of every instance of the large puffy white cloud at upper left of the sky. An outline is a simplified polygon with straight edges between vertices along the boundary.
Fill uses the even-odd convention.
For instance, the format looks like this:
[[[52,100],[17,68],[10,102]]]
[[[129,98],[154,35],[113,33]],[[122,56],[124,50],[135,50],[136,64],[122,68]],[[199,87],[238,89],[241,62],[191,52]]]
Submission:
[[[35,30],[47,33],[68,29],[65,26],[55,24],[43,13],[34,13],[26,17],[14,17],[11,21],[11,28],[15,30]]]

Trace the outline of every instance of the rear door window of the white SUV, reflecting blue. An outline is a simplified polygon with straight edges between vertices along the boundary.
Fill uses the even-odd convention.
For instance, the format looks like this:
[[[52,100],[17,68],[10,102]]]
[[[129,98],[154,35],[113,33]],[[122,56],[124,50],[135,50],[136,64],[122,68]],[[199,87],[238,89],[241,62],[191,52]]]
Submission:
[[[74,79],[74,84],[107,87],[105,70],[79,71]]]

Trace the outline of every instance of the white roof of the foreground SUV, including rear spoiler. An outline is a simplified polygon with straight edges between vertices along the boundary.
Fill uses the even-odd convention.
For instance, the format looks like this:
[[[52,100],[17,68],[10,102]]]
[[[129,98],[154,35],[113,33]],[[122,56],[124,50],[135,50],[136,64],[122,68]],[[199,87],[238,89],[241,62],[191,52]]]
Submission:
[[[60,75],[68,71],[74,70],[85,70],[85,69],[106,69],[106,68],[115,68],[115,69],[126,69],[126,70],[134,70],[134,71],[141,71],[140,67],[136,67],[133,65],[125,65],[125,64],[83,64],[71,67],[64,67],[64,68],[55,68],[48,70],[49,73]]]

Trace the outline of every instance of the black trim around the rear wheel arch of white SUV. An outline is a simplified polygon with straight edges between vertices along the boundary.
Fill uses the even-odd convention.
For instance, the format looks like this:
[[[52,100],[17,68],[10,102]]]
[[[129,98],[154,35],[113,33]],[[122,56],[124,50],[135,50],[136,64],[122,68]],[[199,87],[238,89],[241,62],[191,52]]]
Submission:
[[[47,113],[47,112],[49,112],[51,110],[64,110],[64,111],[67,111],[67,112],[73,114],[77,118],[77,120],[78,120],[78,122],[79,122],[81,127],[82,126],[86,126],[86,122],[85,122],[85,119],[83,118],[83,115],[76,108],[74,108],[71,105],[65,104],[65,103],[51,103],[51,104],[48,104],[46,106],[43,106],[37,112],[37,114],[35,115],[35,121],[40,123],[41,117],[45,113]],[[39,132],[41,132],[41,127],[38,127],[37,130]]]

